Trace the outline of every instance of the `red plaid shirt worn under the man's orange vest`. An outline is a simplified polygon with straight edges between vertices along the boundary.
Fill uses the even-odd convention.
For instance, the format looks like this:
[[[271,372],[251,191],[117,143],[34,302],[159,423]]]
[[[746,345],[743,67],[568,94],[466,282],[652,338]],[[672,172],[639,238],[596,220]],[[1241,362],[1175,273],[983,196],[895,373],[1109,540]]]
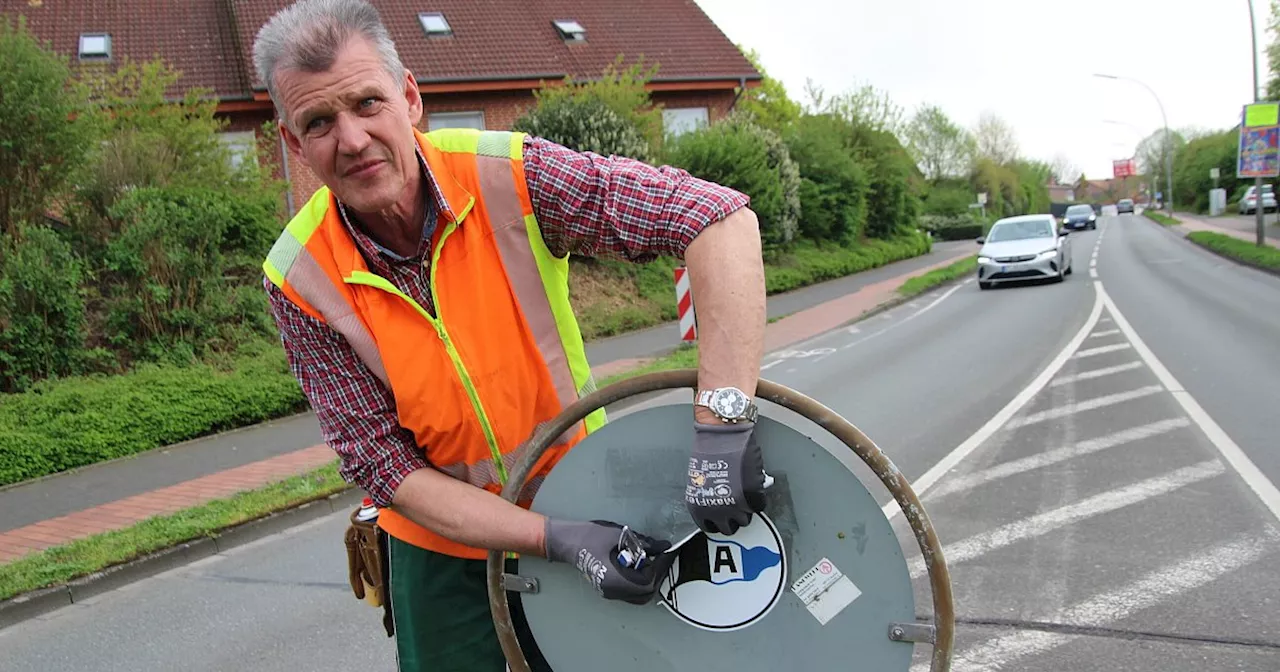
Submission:
[[[526,137],[524,155],[534,215],[557,256],[637,262],[659,255],[682,259],[704,227],[749,202],[740,192],[681,169],[577,152],[536,137]],[[452,221],[454,214],[421,154],[419,164],[431,197],[415,256],[392,253],[361,230],[340,204],[339,212],[370,271],[434,311],[424,260],[430,260],[436,223]],[[338,332],[298,308],[270,280],[264,279],[264,285],[289,369],[316,413],[325,443],[340,457],[339,472],[378,506],[390,506],[404,476],[429,466],[412,433],[399,425],[392,392]]]

